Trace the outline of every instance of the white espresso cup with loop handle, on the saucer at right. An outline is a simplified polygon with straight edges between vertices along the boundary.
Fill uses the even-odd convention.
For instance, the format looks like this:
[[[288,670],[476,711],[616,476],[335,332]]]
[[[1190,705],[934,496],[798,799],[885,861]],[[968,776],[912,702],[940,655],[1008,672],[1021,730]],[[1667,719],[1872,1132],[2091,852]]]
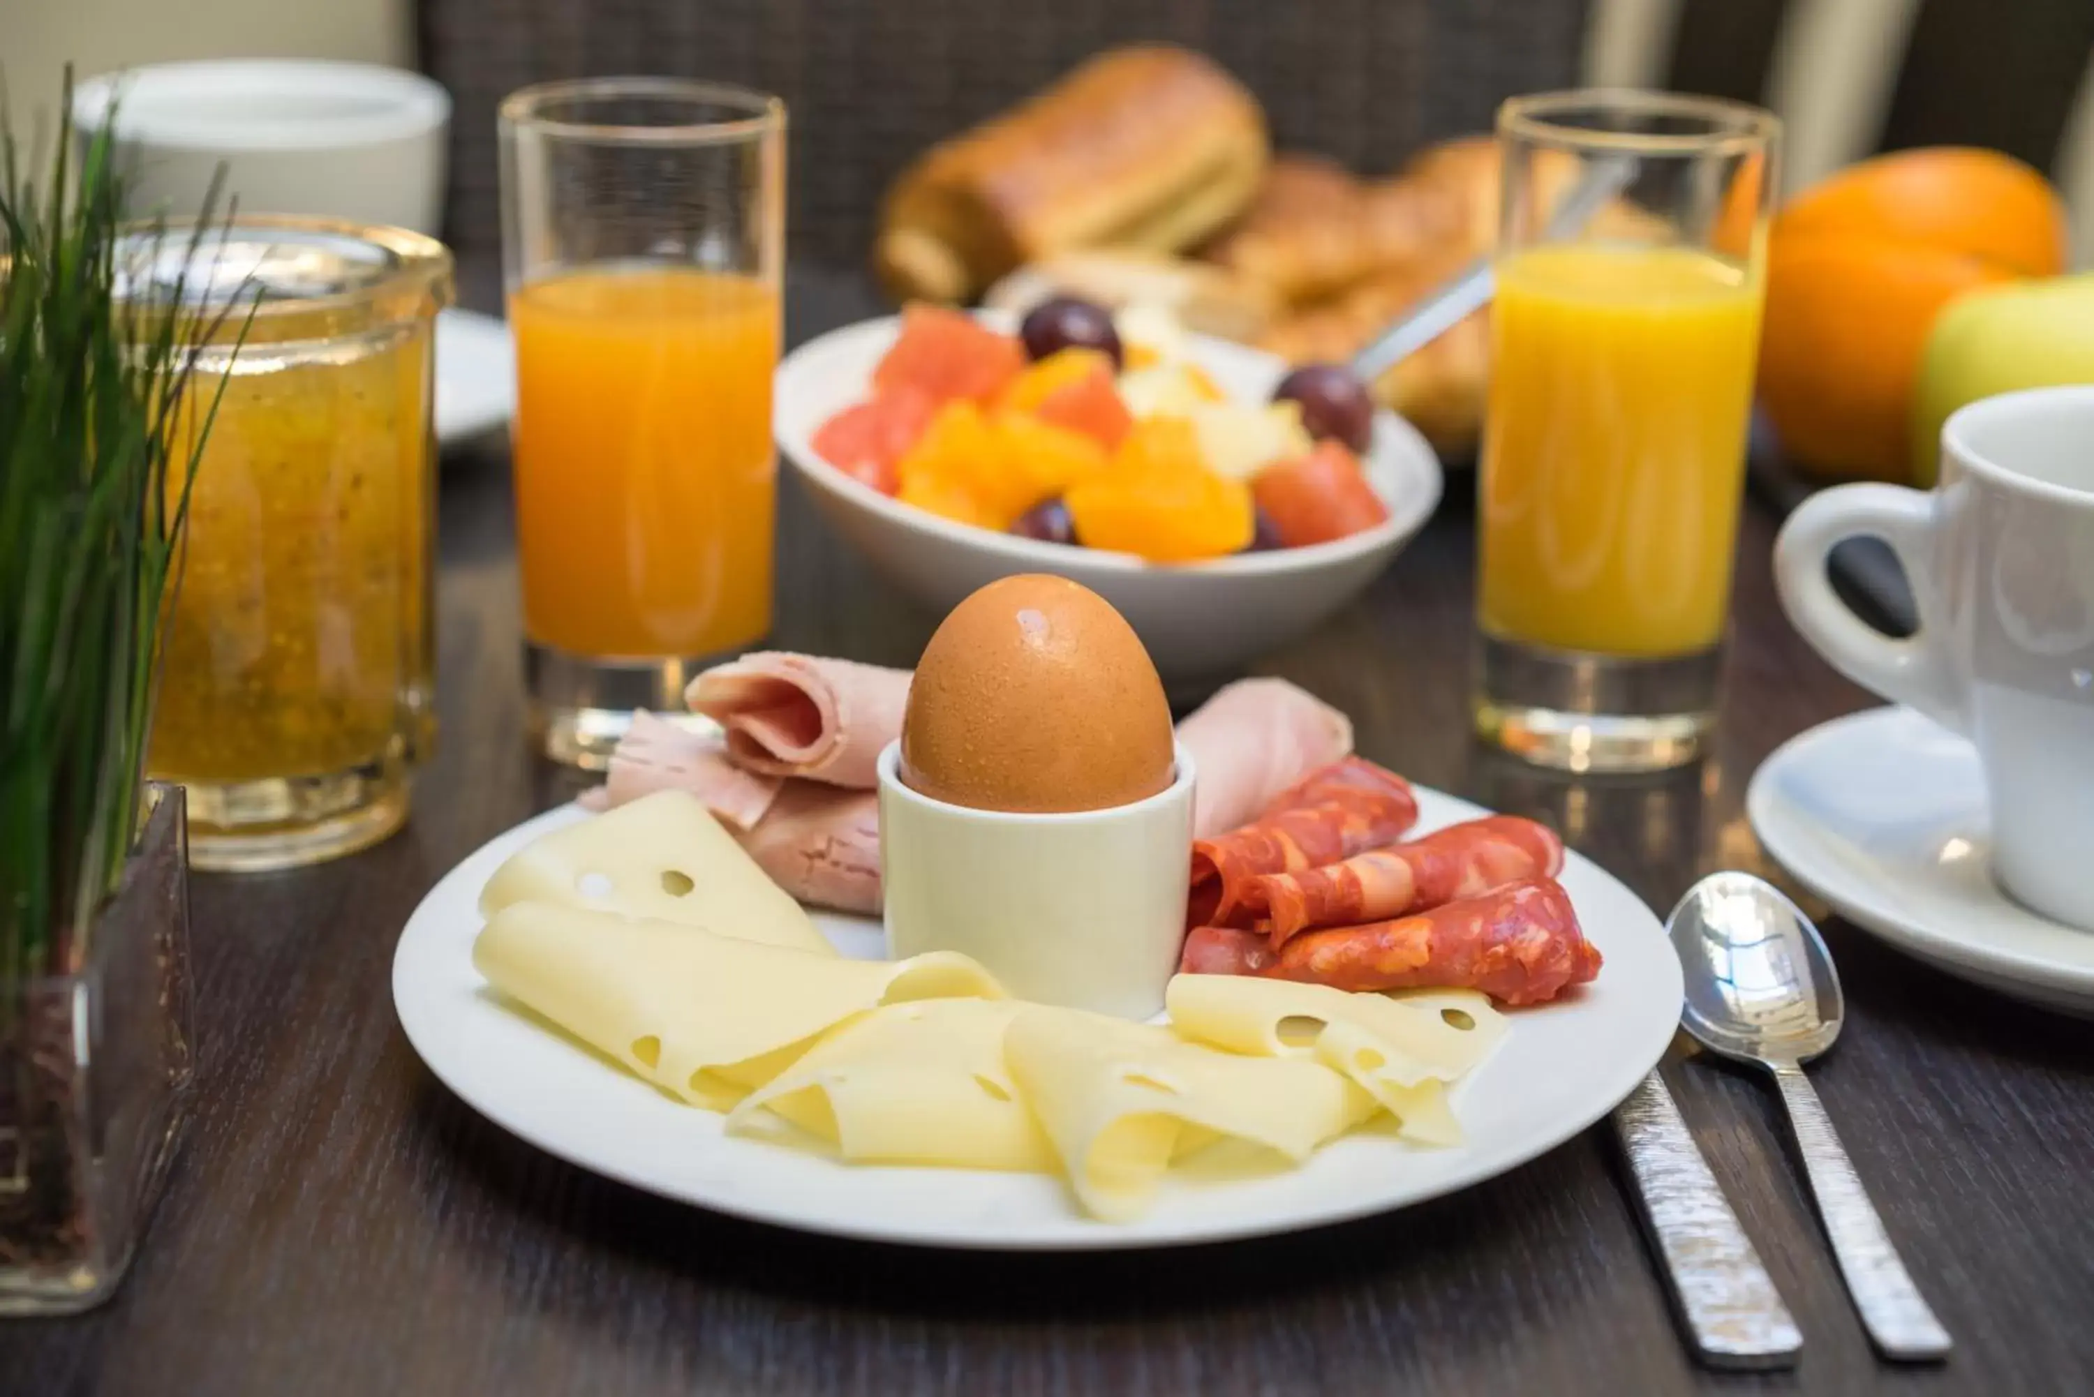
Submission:
[[[1826,580],[1843,538],[1883,538],[1918,633],[1866,626]],[[1985,398],[1941,427],[1941,484],[1839,486],[1774,549],[1797,630],[1847,679],[1977,746],[1991,873],[2094,930],[2094,385]]]

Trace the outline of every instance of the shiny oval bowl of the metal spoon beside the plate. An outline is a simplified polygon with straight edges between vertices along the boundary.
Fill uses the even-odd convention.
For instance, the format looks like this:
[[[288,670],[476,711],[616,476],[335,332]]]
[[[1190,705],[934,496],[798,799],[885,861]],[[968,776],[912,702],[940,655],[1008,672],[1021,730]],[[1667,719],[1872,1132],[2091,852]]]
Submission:
[[[1665,934],[1679,955],[1679,1022],[1725,1058],[1809,1062],[1839,1037],[1845,997],[1824,938],[1803,909],[1751,873],[1694,884]]]

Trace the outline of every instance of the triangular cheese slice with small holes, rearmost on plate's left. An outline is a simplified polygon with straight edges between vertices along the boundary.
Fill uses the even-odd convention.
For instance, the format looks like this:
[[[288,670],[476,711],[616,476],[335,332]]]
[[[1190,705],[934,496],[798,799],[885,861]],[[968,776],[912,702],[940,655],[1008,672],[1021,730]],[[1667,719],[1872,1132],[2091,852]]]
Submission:
[[[683,790],[641,796],[519,848],[480,890],[480,915],[515,903],[655,917],[836,955],[806,909]]]

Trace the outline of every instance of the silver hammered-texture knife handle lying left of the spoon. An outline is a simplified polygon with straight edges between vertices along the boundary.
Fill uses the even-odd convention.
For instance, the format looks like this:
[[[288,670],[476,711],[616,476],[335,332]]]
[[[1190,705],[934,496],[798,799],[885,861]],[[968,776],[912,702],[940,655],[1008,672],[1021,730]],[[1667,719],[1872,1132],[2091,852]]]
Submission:
[[[1612,1121],[1694,1355],[1711,1368],[1795,1366],[1803,1334],[1665,1081],[1652,1070]]]

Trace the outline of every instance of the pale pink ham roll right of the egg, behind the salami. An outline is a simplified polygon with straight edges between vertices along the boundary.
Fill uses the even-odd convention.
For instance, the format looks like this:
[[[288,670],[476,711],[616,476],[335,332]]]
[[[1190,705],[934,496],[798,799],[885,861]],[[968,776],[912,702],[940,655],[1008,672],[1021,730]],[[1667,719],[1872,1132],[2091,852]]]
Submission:
[[[1200,773],[1196,840],[1248,825],[1290,785],[1353,750],[1353,723],[1284,679],[1225,685],[1177,735]]]

